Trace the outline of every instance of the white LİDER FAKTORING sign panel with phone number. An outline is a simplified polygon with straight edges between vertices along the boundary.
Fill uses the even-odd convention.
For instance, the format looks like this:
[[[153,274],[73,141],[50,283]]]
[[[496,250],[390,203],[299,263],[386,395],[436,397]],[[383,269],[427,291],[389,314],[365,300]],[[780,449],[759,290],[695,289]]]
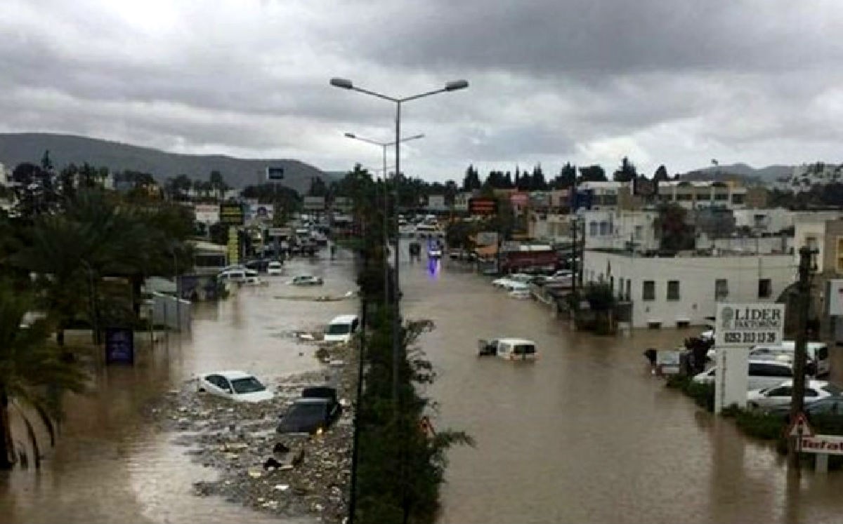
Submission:
[[[717,347],[781,344],[784,320],[784,304],[719,303],[714,344]]]

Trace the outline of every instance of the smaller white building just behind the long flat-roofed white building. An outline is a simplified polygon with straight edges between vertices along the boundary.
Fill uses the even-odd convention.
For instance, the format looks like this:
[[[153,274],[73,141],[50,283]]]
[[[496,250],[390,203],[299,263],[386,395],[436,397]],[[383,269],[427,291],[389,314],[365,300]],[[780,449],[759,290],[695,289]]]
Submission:
[[[658,211],[581,211],[586,249],[658,249]]]

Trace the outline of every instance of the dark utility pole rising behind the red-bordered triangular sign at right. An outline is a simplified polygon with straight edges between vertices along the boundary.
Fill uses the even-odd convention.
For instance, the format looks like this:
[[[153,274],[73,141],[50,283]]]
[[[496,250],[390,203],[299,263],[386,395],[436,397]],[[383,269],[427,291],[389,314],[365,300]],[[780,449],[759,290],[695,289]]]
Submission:
[[[813,249],[803,246],[799,249],[799,281],[797,283],[797,332],[796,350],[793,356],[793,392],[791,395],[790,420],[796,420],[805,405],[805,360],[808,345],[808,311],[811,306],[811,274],[813,273]],[[789,465],[799,468],[797,438],[787,441]]]

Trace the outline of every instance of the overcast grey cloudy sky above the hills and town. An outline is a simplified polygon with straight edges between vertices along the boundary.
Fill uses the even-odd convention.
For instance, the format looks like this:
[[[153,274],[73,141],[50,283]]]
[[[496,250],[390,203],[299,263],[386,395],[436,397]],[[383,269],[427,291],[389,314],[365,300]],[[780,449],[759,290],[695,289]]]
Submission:
[[[652,175],[843,146],[840,0],[2,0],[0,131],[379,167],[600,163]],[[391,161],[390,161],[391,164]]]

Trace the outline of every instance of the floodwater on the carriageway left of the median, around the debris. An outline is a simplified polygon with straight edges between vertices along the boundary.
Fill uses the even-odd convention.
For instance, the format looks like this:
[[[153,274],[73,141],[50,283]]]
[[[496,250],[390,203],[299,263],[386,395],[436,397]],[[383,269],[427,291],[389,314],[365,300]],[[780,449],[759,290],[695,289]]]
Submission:
[[[296,274],[323,276],[325,286],[288,286]],[[221,498],[193,495],[192,484],[215,479],[215,473],[191,463],[186,448],[170,441],[173,435],[145,427],[141,416],[149,400],[184,388],[201,372],[241,369],[271,385],[284,375],[319,369],[314,346],[298,345],[291,334],[357,313],[356,298],[313,300],[356,289],[350,255],[293,259],[287,275],[263,278],[269,286],[196,304],[190,333],[170,334],[154,350],[140,348],[133,367],[100,369],[91,393],[68,398],[56,448],[45,449],[46,436],[41,439],[41,470],[30,460],[29,469],[0,473],[0,523],[277,522]],[[15,433],[25,435],[15,422]]]

